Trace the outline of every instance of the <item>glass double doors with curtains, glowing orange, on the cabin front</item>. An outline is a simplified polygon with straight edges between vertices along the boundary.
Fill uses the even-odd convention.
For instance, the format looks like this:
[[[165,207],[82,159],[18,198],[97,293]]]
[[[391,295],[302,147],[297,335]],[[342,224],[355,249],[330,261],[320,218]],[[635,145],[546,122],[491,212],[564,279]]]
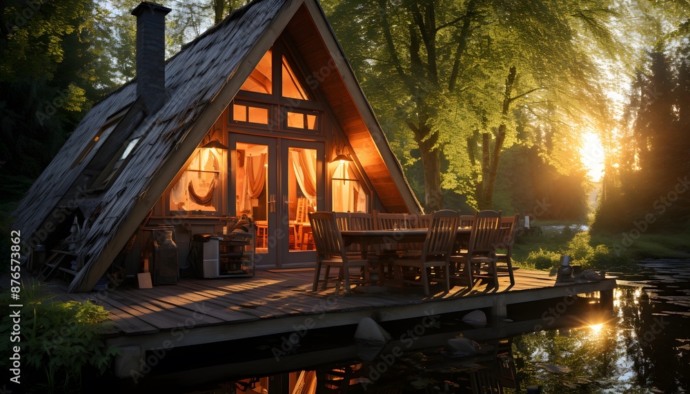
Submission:
[[[323,144],[232,133],[229,141],[230,212],[255,222],[256,265],[315,262],[307,215],[324,208]]]

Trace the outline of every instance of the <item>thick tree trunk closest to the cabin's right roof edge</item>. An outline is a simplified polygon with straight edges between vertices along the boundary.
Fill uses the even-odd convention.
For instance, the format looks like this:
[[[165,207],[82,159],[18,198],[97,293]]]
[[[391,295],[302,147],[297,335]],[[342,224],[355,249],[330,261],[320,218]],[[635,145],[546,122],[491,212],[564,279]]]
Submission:
[[[431,213],[443,208],[443,191],[441,190],[440,150],[436,145],[438,133],[426,125],[413,127],[415,141],[420,146],[422,167],[424,167],[424,212]],[[428,136],[428,138],[426,138]],[[426,138],[426,139],[425,139]]]

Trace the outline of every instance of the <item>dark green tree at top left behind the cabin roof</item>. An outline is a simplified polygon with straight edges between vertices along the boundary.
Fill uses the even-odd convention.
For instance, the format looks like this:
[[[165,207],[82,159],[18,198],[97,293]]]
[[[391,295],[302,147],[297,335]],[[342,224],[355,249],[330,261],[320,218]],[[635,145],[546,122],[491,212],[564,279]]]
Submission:
[[[3,199],[16,201],[92,103],[112,87],[103,59],[102,10],[3,1],[0,9],[0,161]],[[15,186],[23,187],[15,187]]]

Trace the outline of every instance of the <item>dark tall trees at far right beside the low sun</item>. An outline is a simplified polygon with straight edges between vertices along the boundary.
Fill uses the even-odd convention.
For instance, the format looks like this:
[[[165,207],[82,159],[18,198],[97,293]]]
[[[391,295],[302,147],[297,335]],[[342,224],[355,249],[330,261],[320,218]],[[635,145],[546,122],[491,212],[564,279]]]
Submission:
[[[658,41],[636,70],[596,228],[690,224],[689,52],[687,42],[671,50]]]

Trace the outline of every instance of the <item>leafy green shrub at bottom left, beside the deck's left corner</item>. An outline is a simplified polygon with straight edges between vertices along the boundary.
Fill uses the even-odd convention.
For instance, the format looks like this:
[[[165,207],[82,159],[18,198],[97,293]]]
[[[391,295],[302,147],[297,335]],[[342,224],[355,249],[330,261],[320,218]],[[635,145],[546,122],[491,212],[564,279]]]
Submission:
[[[108,311],[86,302],[53,302],[39,295],[37,286],[23,288],[21,308],[21,370],[22,382],[41,392],[80,391],[82,372],[103,375],[119,354],[114,346],[106,348],[103,332],[108,328]],[[4,293],[0,310],[0,331],[10,333],[12,318],[10,293]],[[16,308],[15,308],[16,309]],[[16,346],[3,335],[3,349]],[[8,366],[2,357],[0,366]]]

